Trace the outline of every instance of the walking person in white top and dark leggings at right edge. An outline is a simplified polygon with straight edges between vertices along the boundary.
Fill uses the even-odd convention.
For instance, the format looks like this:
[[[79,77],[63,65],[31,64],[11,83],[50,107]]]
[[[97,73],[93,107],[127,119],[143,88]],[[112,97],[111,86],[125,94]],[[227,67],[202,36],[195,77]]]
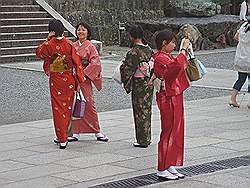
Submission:
[[[244,22],[240,29],[236,32],[234,38],[238,41],[236,54],[234,59],[235,70],[238,71],[238,79],[233,85],[229,105],[232,107],[240,107],[236,97],[244,85],[247,77],[250,82],[250,17],[247,16],[247,21]],[[248,83],[248,108],[250,108],[250,83]]]

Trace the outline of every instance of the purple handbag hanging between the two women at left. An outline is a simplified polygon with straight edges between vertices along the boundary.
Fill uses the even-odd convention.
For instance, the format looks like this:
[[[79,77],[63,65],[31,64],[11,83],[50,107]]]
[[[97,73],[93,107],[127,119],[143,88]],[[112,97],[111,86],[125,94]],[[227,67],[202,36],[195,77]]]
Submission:
[[[83,118],[85,112],[85,102],[86,101],[81,93],[81,90],[79,92],[77,91],[75,105],[72,114],[74,118]]]

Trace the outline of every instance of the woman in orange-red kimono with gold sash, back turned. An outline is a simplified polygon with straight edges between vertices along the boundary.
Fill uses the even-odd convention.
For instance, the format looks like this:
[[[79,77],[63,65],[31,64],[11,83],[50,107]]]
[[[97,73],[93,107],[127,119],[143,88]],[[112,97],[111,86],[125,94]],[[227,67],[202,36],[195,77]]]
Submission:
[[[60,20],[50,21],[47,41],[36,49],[37,57],[44,60],[43,69],[49,77],[54,128],[60,149],[65,149],[68,143],[75,79],[80,83],[85,80],[80,57],[72,43],[63,37],[63,32]]]

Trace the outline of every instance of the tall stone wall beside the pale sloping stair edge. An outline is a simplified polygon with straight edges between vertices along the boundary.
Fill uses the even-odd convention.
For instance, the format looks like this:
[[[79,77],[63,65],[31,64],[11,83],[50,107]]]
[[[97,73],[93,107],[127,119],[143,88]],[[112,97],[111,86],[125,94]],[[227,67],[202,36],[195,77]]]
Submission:
[[[164,0],[46,0],[71,24],[90,24],[93,39],[104,45],[119,43],[119,22],[164,16]]]

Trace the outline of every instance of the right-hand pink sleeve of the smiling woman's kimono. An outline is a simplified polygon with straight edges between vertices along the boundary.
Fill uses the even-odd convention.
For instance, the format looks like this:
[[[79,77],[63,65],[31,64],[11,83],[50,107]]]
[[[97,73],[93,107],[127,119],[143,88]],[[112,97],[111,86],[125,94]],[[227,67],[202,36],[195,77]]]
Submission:
[[[100,77],[102,66],[100,62],[100,57],[96,47],[94,45],[90,46],[90,53],[88,57],[88,66],[84,69],[84,74],[92,81]]]

